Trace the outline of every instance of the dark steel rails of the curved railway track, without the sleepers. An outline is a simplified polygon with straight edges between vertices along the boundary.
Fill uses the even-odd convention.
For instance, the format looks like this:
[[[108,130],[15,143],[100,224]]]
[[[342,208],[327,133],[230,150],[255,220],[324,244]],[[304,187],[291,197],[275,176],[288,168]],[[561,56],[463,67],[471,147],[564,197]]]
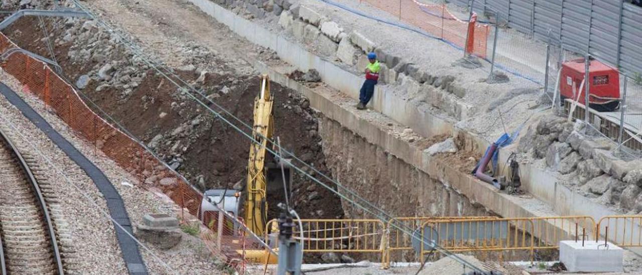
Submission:
[[[31,190],[33,191],[33,195],[38,200],[38,204],[40,207],[40,210],[42,211],[42,219],[44,220],[45,226],[47,227],[48,233],[49,233],[49,242],[51,242],[51,249],[53,251],[53,258],[54,262],[56,263],[56,269],[58,270],[59,275],[65,274],[63,271],[62,267],[62,259],[60,258],[60,250],[58,249],[58,242],[56,240],[56,234],[55,230],[53,228],[53,223],[51,222],[51,216],[49,215],[49,210],[47,209],[47,204],[44,200],[44,197],[42,197],[42,191],[40,191],[40,186],[38,185],[38,181],[36,181],[35,177],[33,176],[33,173],[31,172],[31,169],[29,168],[27,162],[24,160],[24,157],[22,157],[22,154],[18,151],[17,147],[13,145],[11,140],[9,139],[6,134],[0,130],[0,139],[3,141],[3,143],[8,146],[9,151],[11,154],[13,154],[16,159],[18,160],[18,164],[24,172],[25,179],[31,184]],[[2,254],[2,274],[6,274],[6,263],[4,262],[4,246],[1,247],[0,253]]]

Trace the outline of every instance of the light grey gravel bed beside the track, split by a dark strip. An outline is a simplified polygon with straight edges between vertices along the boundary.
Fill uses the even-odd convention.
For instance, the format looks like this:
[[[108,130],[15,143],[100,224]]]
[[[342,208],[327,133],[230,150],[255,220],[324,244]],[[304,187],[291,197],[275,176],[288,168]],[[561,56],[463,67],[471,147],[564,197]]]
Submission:
[[[22,93],[21,85],[4,71],[0,71],[0,81],[16,91],[33,109],[39,112],[51,126],[71,142],[82,154],[92,163],[96,164],[103,173],[114,184],[120,193],[127,208],[132,224],[139,224],[143,216],[148,213],[165,213],[175,215],[178,209],[168,197],[160,191],[149,191],[139,188],[139,181],[118,166],[114,161],[102,154],[100,150],[94,150],[92,143],[76,136],[67,125],[55,114],[48,111],[46,107],[35,96]],[[0,100],[0,113],[5,114],[3,118],[19,127],[24,136],[37,137],[38,142],[33,143],[39,150],[44,152],[49,159],[55,159],[56,165],[65,172],[67,177],[80,187],[94,202],[97,202],[103,211],[107,211],[107,205],[102,199],[100,192],[85,173],[76,166],[71,159],[66,157],[49,139],[31,124],[20,112],[8,103],[4,97]],[[16,123],[16,121],[18,123]],[[51,175],[52,182],[60,186],[62,194],[65,194],[65,211],[71,223],[71,231],[74,242],[78,247],[78,253],[83,255],[79,270],[87,271],[87,274],[121,274],[125,273],[125,264],[121,258],[121,252],[116,242],[114,226],[107,217],[100,213],[95,206],[87,202],[80,195],[78,190],[70,186],[64,177]],[[133,186],[133,187],[132,187]],[[202,274],[205,272],[216,272],[216,263],[207,248],[198,238],[184,234],[183,241],[168,251],[161,251],[154,247],[147,246],[150,251],[141,248],[141,254],[148,265],[151,274]],[[159,256],[162,262],[169,265],[168,271],[162,263],[153,258],[152,253]],[[83,260],[86,259],[86,260]]]

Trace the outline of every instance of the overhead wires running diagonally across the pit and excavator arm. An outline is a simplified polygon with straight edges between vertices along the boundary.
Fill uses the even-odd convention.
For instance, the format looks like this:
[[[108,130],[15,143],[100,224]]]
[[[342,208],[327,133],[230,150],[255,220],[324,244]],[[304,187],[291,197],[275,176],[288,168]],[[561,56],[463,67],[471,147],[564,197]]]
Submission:
[[[244,126],[245,126],[245,127],[247,127],[248,129],[252,130],[252,127],[250,127],[250,125],[248,125],[248,124],[247,124],[247,123],[245,123],[244,121],[240,120],[239,118],[237,118],[236,116],[234,116],[233,114],[231,114],[229,111],[227,111],[227,109],[225,109],[225,108],[221,107],[220,105],[218,105],[217,103],[213,102],[213,100],[211,100],[210,98],[207,98],[207,96],[205,96],[205,94],[203,94],[202,92],[200,92],[200,91],[196,90],[196,89],[195,89],[195,88],[193,88],[191,85],[187,84],[187,82],[185,82],[184,80],[182,80],[182,78],[180,78],[180,76],[178,76],[178,75],[176,75],[175,73],[173,73],[173,72],[171,71],[171,69],[168,69],[166,66],[164,66],[164,65],[160,64],[159,62],[155,62],[155,61],[152,59],[152,57],[149,57],[146,53],[144,53],[144,52],[142,51],[142,49],[141,49],[141,48],[139,48],[139,46],[135,45],[135,44],[134,44],[134,42],[131,42],[130,40],[126,39],[126,37],[125,37],[124,35],[121,35],[121,33],[119,33],[119,31],[116,31],[112,26],[110,26],[109,24],[107,24],[107,22],[105,22],[105,21],[101,20],[100,18],[96,17],[96,15],[94,15],[94,14],[91,12],[91,10],[89,10],[89,8],[85,7],[85,6],[84,6],[83,4],[81,4],[78,0],[71,0],[71,1],[73,1],[73,2],[74,2],[74,4],[76,4],[76,7],[80,8],[80,10],[83,10],[84,12],[87,12],[87,14],[88,14],[92,19],[94,19],[96,22],[99,22],[101,25],[105,26],[105,28],[107,28],[107,30],[108,30],[108,31],[110,31],[110,33],[114,33],[115,35],[117,35],[117,36],[119,37],[120,42],[123,42],[124,44],[126,44],[127,46],[129,46],[129,47],[130,47],[130,49],[132,49],[133,51],[135,51],[135,53],[136,53],[139,57],[144,57],[144,58],[141,58],[141,59],[142,59],[141,61],[145,62],[146,64],[148,64],[148,65],[150,65],[150,66],[152,66],[152,67],[153,67],[153,69],[155,69],[155,71],[157,71],[157,73],[159,73],[159,75],[164,76],[164,78],[166,78],[167,80],[169,80],[169,82],[171,82],[172,84],[176,85],[177,87],[180,87],[180,88],[183,88],[183,89],[187,88],[187,91],[193,91],[193,92],[195,92],[196,94],[198,94],[198,95],[202,96],[203,98],[205,98],[205,100],[206,100],[207,102],[209,102],[209,103],[211,103],[212,105],[214,105],[214,106],[218,107],[221,111],[220,111],[220,112],[215,111],[214,109],[212,109],[212,108],[210,107],[210,105],[209,105],[209,104],[206,104],[206,103],[202,102],[202,101],[201,101],[201,100],[199,100],[199,99],[198,99],[194,94],[192,94],[192,93],[185,93],[187,96],[189,96],[189,98],[192,98],[193,100],[195,100],[195,101],[196,101],[196,103],[198,103],[199,105],[202,105],[202,107],[204,107],[207,111],[212,112],[212,113],[214,114],[214,116],[216,116],[216,117],[217,117],[217,118],[219,118],[220,120],[222,120],[222,121],[224,121],[225,123],[227,123],[228,125],[230,125],[230,127],[232,127],[234,130],[236,130],[236,131],[240,132],[241,134],[243,134],[243,136],[245,136],[245,137],[247,137],[248,139],[250,139],[250,141],[252,141],[252,142],[254,142],[254,143],[258,143],[258,141],[256,141],[256,139],[254,139],[254,137],[252,137],[252,136],[251,136],[250,134],[248,134],[247,132],[245,132],[245,131],[241,130],[241,129],[238,127],[238,125],[235,125],[234,123],[231,123],[227,118],[225,118],[223,115],[221,115],[221,112],[223,112],[223,113],[225,113],[225,114],[228,114],[232,119],[234,119],[234,120],[236,120],[236,121],[239,121],[239,123],[241,123],[241,125],[244,125]],[[175,79],[171,78],[170,76],[175,76]],[[183,84],[184,84],[185,86],[187,86],[187,87],[185,87],[185,86],[183,86],[183,85],[178,84],[178,82],[183,83]],[[85,98],[87,98],[87,96],[85,96]],[[96,104],[94,103],[94,105],[96,105]],[[263,137],[263,138],[265,138],[265,137]],[[271,139],[267,139],[267,138],[266,138],[266,140],[267,140],[267,141],[269,141],[270,143],[274,144],[274,141],[272,141]],[[259,144],[260,144],[260,143],[259,143]],[[261,146],[263,146],[263,145],[261,145]],[[266,147],[265,149],[266,149],[268,152],[270,152],[271,154],[273,154],[273,155],[277,155],[277,156],[279,155],[279,154],[278,154],[277,152],[275,152],[274,150],[272,150],[272,149],[268,148],[268,146],[265,146],[265,147]],[[288,152],[288,150],[284,150],[284,152],[286,152],[286,154],[291,155],[291,157],[293,157],[294,159],[296,159],[297,161],[299,161],[299,162],[300,162],[301,164],[303,164],[304,166],[306,166],[306,167],[308,167],[308,168],[311,168],[311,170],[313,170],[313,172],[316,172],[318,175],[321,175],[322,177],[324,177],[324,178],[325,178],[325,179],[327,179],[328,181],[330,181],[330,182],[332,182],[333,184],[335,184],[335,185],[337,186],[337,189],[338,189],[338,188],[342,188],[344,191],[346,191],[347,193],[349,193],[350,195],[352,195],[352,197],[353,197],[353,198],[356,198],[356,199],[357,199],[357,200],[359,200],[360,202],[355,202],[355,200],[354,200],[354,199],[349,199],[349,198],[348,198],[348,197],[346,197],[343,193],[341,193],[341,192],[339,192],[339,191],[334,190],[334,188],[332,188],[331,186],[327,185],[326,183],[324,183],[324,182],[320,181],[320,180],[319,180],[319,179],[317,179],[316,177],[313,177],[313,176],[312,176],[311,174],[309,174],[308,172],[305,172],[305,171],[304,171],[304,170],[302,170],[302,168],[300,168],[299,166],[291,165],[291,167],[292,167],[292,168],[294,168],[295,170],[297,170],[297,172],[301,173],[302,175],[305,175],[306,177],[308,177],[308,178],[309,178],[309,179],[311,179],[312,181],[317,182],[318,184],[320,184],[321,186],[323,186],[323,187],[324,187],[324,188],[326,188],[327,190],[330,190],[331,192],[335,193],[336,195],[338,195],[338,196],[339,196],[339,197],[341,197],[342,199],[345,199],[345,200],[348,200],[348,201],[352,202],[352,204],[353,204],[353,205],[358,206],[359,208],[363,209],[365,212],[369,213],[370,215],[373,215],[374,217],[379,218],[380,220],[385,220],[385,221],[387,222],[388,220],[390,220],[390,219],[392,219],[392,218],[393,218],[391,215],[389,215],[388,213],[386,213],[385,211],[383,211],[381,208],[379,208],[379,207],[375,206],[374,204],[372,204],[372,203],[371,203],[371,202],[369,202],[368,200],[363,199],[363,197],[360,197],[358,194],[354,193],[354,191],[349,190],[349,188],[345,188],[345,186],[343,186],[342,184],[340,184],[340,182],[334,181],[334,179],[331,179],[331,177],[329,177],[329,176],[325,175],[325,173],[321,173],[321,172],[320,172],[320,171],[318,171],[318,170],[317,170],[317,168],[315,168],[314,166],[311,166],[311,165],[309,165],[309,164],[305,163],[304,161],[302,161],[301,159],[299,159],[299,157],[296,157],[296,155],[291,154],[290,152]],[[367,206],[369,206],[369,207],[365,207],[365,206],[363,206],[362,204],[365,204],[365,205],[367,205]],[[374,208],[374,209],[370,209],[370,208]],[[408,227],[408,228],[405,228],[405,229],[404,229],[404,228],[402,228],[401,226],[399,226],[399,225],[397,225],[397,224],[394,224],[394,223],[391,223],[391,225],[392,225],[393,227],[395,227],[395,228],[399,229],[399,230],[400,230],[400,231],[402,231],[403,233],[406,233],[406,234],[408,234],[408,235],[412,236],[412,232],[410,232],[410,231],[412,231],[412,228]],[[407,227],[407,226],[404,226],[404,227]],[[408,229],[410,229],[410,231],[409,231]],[[421,240],[420,240],[420,241],[421,241]],[[446,250],[446,249],[444,249],[443,247],[440,247],[440,246],[438,246],[438,245],[436,245],[435,247],[436,247],[436,248],[437,248],[441,253],[444,253],[444,254],[446,254],[446,255],[448,255],[448,256],[453,257],[456,261],[458,261],[458,262],[460,262],[460,263],[463,263],[464,265],[467,265],[467,266],[471,267],[471,269],[481,271],[481,269],[479,269],[478,267],[475,267],[473,264],[471,264],[471,263],[469,263],[469,262],[465,261],[464,259],[460,258],[460,257],[459,257],[459,256],[457,256],[456,254],[450,253],[449,251],[447,251],[447,250]]]

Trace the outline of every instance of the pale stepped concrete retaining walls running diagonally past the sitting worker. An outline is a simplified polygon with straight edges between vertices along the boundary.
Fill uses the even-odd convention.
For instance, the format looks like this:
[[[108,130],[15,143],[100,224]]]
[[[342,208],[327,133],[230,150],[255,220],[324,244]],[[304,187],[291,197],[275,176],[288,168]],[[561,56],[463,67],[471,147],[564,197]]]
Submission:
[[[302,46],[299,46],[297,42],[291,42],[281,35],[271,33],[254,22],[243,19],[208,0],[189,1],[217,21],[229,26],[234,32],[250,40],[250,42],[277,51],[282,60],[298,67],[301,71],[317,69],[326,84],[351,96],[351,98],[358,98],[361,84],[360,76],[353,75],[347,70],[310,53]],[[483,205],[489,212],[497,213],[502,217],[588,215],[599,218],[605,215],[618,214],[569,190],[569,188],[561,184],[557,184],[550,173],[528,164],[520,167],[521,173],[523,173],[523,189],[532,193],[537,199],[525,199],[498,193],[494,187],[479,181],[469,173],[459,172],[453,169],[449,163],[424,155],[422,153],[423,148],[417,148],[392,136],[386,130],[378,128],[376,125],[369,123],[369,121],[359,118],[352,113],[352,107],[344,108],[342,105],[333,102],[331,99],[332,94],[313,91],[305,85],[288,78],[285,75],[286,71],[279,71],[277,68],[268,67],[261,62],[256,63],[256,68],[264,73],[269,73],[273,81],[304,94],[310,100],[311,107],[322,112],[330,120],[340,123],[345,129],[349,129],[369,143],[381,147],[381,150],[389,152],[394,157],[430,175],[442,184],[454,188],[458,193],[467,197],[472,205]],[[412,103],[395,97],[394,94],[376,92],[373,100],[374,109],[403,125],[411,127],[422,136],[453,133],[465,136],[465,146],[468,149],[472,148],[483,152],[487,146],[487,142],[483,141],[483,139],[467,132],[462,132],[460,129],[455,129],[453,127],[455,121],[431,114],[427,110],[420,110],[413,106]],[[514,149],[504,148],[501,150],[499,163],[505,163],[512,150]],[[421,188],[420,184],[411,191],[419,191]],[[408,205],[408,207],[416,206]]]

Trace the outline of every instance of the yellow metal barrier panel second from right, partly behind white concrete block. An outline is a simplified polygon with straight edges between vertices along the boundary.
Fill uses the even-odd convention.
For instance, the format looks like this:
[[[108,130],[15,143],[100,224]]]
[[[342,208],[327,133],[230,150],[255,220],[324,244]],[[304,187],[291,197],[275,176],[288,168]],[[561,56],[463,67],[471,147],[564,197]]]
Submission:
[[[594,238],[595,220],[589,216],[538,217],[530,218],[534,224],[535,249],[559,249],[562,240],[584,240]]]

